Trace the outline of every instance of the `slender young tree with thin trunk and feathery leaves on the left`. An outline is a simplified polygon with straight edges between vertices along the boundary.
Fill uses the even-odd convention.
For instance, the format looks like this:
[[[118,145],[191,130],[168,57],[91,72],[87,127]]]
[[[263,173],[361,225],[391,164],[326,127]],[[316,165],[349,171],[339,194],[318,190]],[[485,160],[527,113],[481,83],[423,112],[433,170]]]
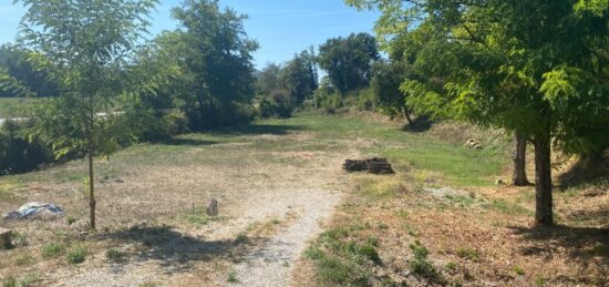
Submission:
[[[91,228],[95,229],[93,157],[117,147],[116,125],[96,113],[125,90],[128,59],[148,22],[155,0],[21,0],[27,12],[20,41],[40,57],[63,93],[39,103],[32,136],[53,146],[55,156],[85,151],[89,161]]]

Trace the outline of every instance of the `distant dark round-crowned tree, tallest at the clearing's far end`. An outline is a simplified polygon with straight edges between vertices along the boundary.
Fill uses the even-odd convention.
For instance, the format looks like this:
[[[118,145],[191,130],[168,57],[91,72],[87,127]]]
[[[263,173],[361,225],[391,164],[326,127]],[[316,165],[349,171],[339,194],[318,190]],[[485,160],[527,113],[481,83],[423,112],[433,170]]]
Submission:
[[[342,95],[367,86],[372,79],[372,63],[379,60],[374,37],[368,33],[329,39],[319,47],[319,66],[328,72]]]

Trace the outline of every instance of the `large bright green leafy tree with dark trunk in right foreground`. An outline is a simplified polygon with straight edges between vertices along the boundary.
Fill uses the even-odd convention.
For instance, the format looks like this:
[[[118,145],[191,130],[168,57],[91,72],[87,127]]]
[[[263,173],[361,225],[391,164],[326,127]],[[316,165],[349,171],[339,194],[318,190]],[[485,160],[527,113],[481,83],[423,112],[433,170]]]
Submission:
[[[382,11],[376,30],[389,47],[420,43],[415,65],[442,89],[406,81],[415,102],[533,143],[536,223],[554,224],[553,142],[565,152],[598,150],[609,136],[607,2],[348,2]]]

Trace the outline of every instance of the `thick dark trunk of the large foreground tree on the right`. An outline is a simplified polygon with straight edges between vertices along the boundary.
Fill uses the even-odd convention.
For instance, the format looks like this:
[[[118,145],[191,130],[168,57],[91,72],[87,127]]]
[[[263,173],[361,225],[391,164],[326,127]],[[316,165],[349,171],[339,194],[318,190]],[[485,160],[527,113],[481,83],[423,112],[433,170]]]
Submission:
[[[540,226],[551,226],[551,166],[550,166],[550,136],[549,133],[535,139],[535,223]]]

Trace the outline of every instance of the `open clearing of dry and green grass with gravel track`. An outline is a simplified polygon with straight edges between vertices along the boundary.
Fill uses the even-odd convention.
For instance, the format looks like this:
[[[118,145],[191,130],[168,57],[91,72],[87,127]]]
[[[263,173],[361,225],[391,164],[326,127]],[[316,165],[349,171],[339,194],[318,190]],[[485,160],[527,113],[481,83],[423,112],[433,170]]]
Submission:
[[[0,213],[32,201],[66,211],[60,221],[2,223],[17,233],[17,247],[1,252],[0,278],[51,286],[519,285],[555,281],[559,270],[567,279],[557,283],[602,284],[606,189],[559,195],[561,224],[579,227],[539,234],[549,236],[541,237],[546,250],[528,225],[531,188],[491,187],[506,171],[509,142],[487,136],[481,151],[463,147],[476,132],[404,132],[367,114],[302,114],[132,146],[97,161],[97,233],[84,232],[84,161],[0,177]],[[345,158],[365,156],[389,157],[398,174],[341,170]],[[205,214],[213,198],[219,217]],[[584,238],[576,246],[571,233]],[[417,248],[425,256],[412,259]],[[417,260],[423,275],[411,271]]]

